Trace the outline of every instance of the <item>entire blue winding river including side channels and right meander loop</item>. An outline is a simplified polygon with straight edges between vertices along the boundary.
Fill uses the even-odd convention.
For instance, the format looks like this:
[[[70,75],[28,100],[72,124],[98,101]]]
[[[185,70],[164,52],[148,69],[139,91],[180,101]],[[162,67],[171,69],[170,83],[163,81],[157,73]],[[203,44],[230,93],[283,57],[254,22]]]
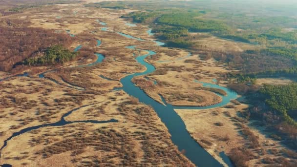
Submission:
[[[118,33],[118,34],[123,35],[127,38],[134,39],[134,40],[145,41],[143,39],[135,38],[135,37],[132,37],[127,34],[123,34],[123,33]],[[160,42],[160,43],[156,42],[156,43],[157,43],[157,45],[164,44],[163,42]],[[135,47],[136,46],[127,46],[127,48],[129,48],[129,49],[135,49]],[[81,48],[81,45],[79,47],[77,47],[77,50],[79,50],[80,48]],[[143,51],[147,51],[148,53],[145,55],[137,56],[137,57],[135,57],[135,59],[138,63],[146,66],[146,71],[130,74],[130,75],[127,75],[126,77],[122,78],[120,80],[120,82],[123,84],[123,87],[121,89],[124,90],[128,95],[138,98],[139,102],[150,105],[156,111],[156,113],[160,117],[161,121],[167,126],[167,128],[170,132],[170,135],[171,135],[172,142],[178,147],[179,150],[185,150],[186,157],[189,158],[192,163],[194,163],[196,166],[199,166],[199,167],[221,167],[222,165],[218,161],[216,161],[204,148],[202,148],[191,137],[189,132],[186,130],[186,126],[185,126],[184,122],[182,121],[180,116],[174,111],[174,109],[207,109],[207,108],[220,107],[220,106],[224,106],[224,105],[228,104],[230,102],[230,100],[236,99],[237,94],[225,87],[222,87],[222,86],[219,86],[216,84],[201,83],[201,82],[195,80],[193,82],[201,83],[201,84],[203,84],[203,86],[206,86],[206,87],[209,86],[209,87],[223,89],[224,91],[226,91],[227,96],[220,95],[223,99],[221,103],[214,104],[211,106],[205,106],[205,107],[173,106],[171,104],[167,104],[164,99],[162,99],[162,100],[164,101],[164,103],[166,105],[160,104],[160,103],[156,102],[155,100],[153,100],[152,98],[150,98],[143,90],[141,90],[139,87],[137,87],[135,84],[133,84],[131,82],[133,77],[147,75],[147,74],[155,71],[155,67],[153,65],[151,65],[150,63],[147,63],[145,61],[145,59],[148,56],[152,56],[156,53],[151,50],[143,50]],[[87,65],[83,65],[83,66],[92,66],[96,63],[102,62],[102,60],[104,59],[104,56],[101,54],[96,54],[96,55],[98,56],[98,59],[96,62],[87,64]],[[118,89],[115,88],[114,90],[118,90]],[[89,104],[89,105],[92,105],[92,104]],[[88,105],[84,105],[84,106],[75,108],[75,109],[67,112],[66,114],[64,114],[64,116],[61,118],[61,120],[59,122],[56,122],[53,124],[45,124],[45,125],[28,127],[28,128],[22,129],[19,132],[13,133],[13,135],[11,137],[9,137],[7,140],[5,140],[4,145],[1,147],[0,150],[2,150],[7,145],[7,141],[9,141],[13,137],[21,135],[27,131],[30,131],[33,129],[38,129],[38,128],[44,127],[44,126],[62,126],[62,125],[67,125],[67,124],[72,124],[72,123],[79,123],[80,121],[67,122],[64,120],[64,118],[66,116],[68,116],[69,114],[71,114],[72,112],[74,112],[82,107],[85,107],[85,106],[88,106]],[[114,120],[114,119],[111,119],[108,121],[91,121],[90,120],[90,121],[81,121],[81,122],[101,124],[101,123],[117,122],[117,120]]]

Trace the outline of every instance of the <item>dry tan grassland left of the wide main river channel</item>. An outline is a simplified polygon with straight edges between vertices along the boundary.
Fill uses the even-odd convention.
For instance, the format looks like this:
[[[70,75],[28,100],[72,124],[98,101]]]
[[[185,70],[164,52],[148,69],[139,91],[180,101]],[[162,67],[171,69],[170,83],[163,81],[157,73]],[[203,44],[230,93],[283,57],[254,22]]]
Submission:
[[[75,15],[73,11],[77,11]],[[75,46],[82,44],[94,50],[92,55],[81,50],[90,56],[81,60],[84,64],[93,63],[94,53],[103,54],[105,60],[84,67],[77,67],[82,63],[67,64],[63,69],[49,70],[45,78],[14,77],[1,82],[0,108],[4,112],[0,112],[0,142],[9,140],[1,150],[0,164],[194,166],[172,143],[168,128],[151,107],[123,90],[114,90],[123,86],[119,81],[125,76],[146,69],[125,46],[155,43],[127,40],[116,34],[115,30],[142,34],[140,38],[148,36],[146,26],[122,27],[127,22],[119,18],[123,12],[58,4],[42,6],[42,13],[28,10],[20,14],[33,26],[61,29],[62,33],[70,30],[72,38],[77,38]],[[106,22],[109,31],[100,31],[97,19]],[[98,39],[102,40],[99,47]],[[143,53],[147,52],[137,55]],[[64,118],[69,124],[55,124],[70,111]],[[113,119],[118,122],[108,122]],[[18,135],[11,138],[13,133]]]

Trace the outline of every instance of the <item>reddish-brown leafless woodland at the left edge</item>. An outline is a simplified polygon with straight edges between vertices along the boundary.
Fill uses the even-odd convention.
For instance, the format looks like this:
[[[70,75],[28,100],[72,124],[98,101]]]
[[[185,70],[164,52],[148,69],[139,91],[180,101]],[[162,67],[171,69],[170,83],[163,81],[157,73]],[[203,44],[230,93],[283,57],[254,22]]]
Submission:
[[[71,37],[54,30],[28,27],[29,22],[0,20],[0,70],[9,71],[19,62],[51,45],[69,47]]]

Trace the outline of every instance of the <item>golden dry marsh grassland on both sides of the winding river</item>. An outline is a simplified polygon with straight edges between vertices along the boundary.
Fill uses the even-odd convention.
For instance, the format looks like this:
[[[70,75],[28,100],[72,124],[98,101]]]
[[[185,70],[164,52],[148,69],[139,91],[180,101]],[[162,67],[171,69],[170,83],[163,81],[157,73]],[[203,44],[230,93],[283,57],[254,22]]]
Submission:
[[[125,26],[121,19],[134,10],[114,10],[85,7],[82,0],[71,4],[48,4],[27,8],[21,13],[0,16],[1,19],[26,20],[30,27],[54,30],[57,34],[71,35],[73,51],[82,45],[73,61],[52,65],[21,68],[28,77],[12,77],[0,81],[0,145],[13,133],[22,129],[53,124],[63,117],[66,125],[45,126],[26,131],[7,141],[0,151],[0,164],[14,167],[39,166],[193,166],[190,160],[173,145],[170,133],[154,110],[123,90],[120,80],[128,74],[143,72],[146,67],[137,63],[135,55],[155,55],[145,61],[156,70],[132,82],[148,96],[176,106],[208,106],[222,102],[220,89],[204,87],[195,80],[227,86],[220,78],[234,72],[227,64],[219,63],[203,52],[155,45],[148,26]],[[100,23],[105,22],[106,25]],[[107,27],[107,31],[102,28]],[[137,41],[119,35],[122,32]],[[227,41],[201,33],[192,33],[197,45],[208,45],[217,51],[255,48],[254,45]],[[97,40],[101,44],[97,45]],[[137,45],[136,49],[126,46]],[[144,49],[144,50],[141,50]],[[97,60],[95,53],[105,59]],[[44,78],[39,74],[44,73]],[[0,72],[0,78],[13,76]],[[289,80],[259,79],[257,84],[287,84]],[[161,95],[161,96],[160,96]],[[268,140],[260,131],[250,128],[247,120],[238,117],[247,105],[233,102],[229,107],[205,110],[177,110],[191,136],[214,158],[224,164],[219,152],[235,154],[238,147],[249,147],[250,166],[261,166],[261,161],[280,158],[283,146]],[[232,107],[231,107],[232,106]],[[92,123],[92,121],[118,122]],[[85,122],[86,121],[86,122]],[[241,150],[239,150],[240,152]],[[241,151],[241,153],[244,151]],[[268,152],[274,152],[271,155]],[[246,152],[245,152],[246,153]],[[279,160],[287,161],[287,160]],[[226,165],[226,164],[224,164]]]

